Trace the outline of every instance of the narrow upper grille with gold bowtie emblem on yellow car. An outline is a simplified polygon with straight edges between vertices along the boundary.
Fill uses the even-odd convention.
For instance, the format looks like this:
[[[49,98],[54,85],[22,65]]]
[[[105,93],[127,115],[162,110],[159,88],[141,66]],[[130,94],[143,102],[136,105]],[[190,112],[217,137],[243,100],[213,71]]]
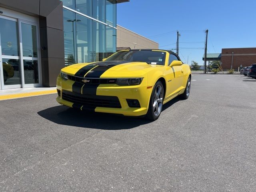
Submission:
[[[72,75],[68,75],[68,79],[79,82],[79,83],[86,83],[86,84],[115,84],[116,79],[102,79],[102,78],[83,78],[83,77],[76,77]]]

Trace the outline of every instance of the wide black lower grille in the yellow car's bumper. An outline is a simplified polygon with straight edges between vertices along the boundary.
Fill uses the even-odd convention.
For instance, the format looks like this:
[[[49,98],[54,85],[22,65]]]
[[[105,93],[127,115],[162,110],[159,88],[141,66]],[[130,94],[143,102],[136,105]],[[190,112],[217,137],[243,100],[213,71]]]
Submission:
[[[90,96],[63,90],[62,99],[75,104],[83,105],[84,107],[121,108],[120,101],[116,96]]]

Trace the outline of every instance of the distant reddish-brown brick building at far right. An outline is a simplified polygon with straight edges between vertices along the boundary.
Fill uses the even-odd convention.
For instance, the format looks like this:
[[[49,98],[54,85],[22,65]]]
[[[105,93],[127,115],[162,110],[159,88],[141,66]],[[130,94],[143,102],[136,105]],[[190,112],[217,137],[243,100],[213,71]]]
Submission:
[[[256,48],[225,48],[221,53],[223,70],[231,68],[232,52],[234,52],[233,69],[236,71],[240,65],[246,67],[256,63]]]

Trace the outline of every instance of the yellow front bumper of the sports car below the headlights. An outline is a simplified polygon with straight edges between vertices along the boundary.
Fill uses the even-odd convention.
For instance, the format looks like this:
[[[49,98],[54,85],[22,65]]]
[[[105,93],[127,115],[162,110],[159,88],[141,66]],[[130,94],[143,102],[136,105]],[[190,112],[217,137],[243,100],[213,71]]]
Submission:
[[[59,90],[59,95],[56,98],[57,102],[72,108],[79,108],[80,110],[93,110],[95,112],[104,112],[104,113],[113,113],[113,114],[122,114],[125,116],[143,116],[148,111],[148,104],[150,100],[150,95],[152,88],[147,88],[146,79],[142,81],[140,85],[135,86],[118,86],[116,84],[100,84],[97,87],[96,95],[88,95],[87,93],[74,93],[72,90],[72,85],[75,82],[72,80],[63,80],[60,76],[57,78],[57,90]],[[72,95],[78,97],[79,102],[75,99],[72,100],[69,97],[69,101],[65,100],[66,95],[72,97]],[[86,95],[87,94],[87,95]],[[112,98],[117,98],[120,102],[120,106],[113,107],[103,107],[104,105],[99,104],[99,106],[92,106],[88,100],[95,98],[98,100],[102,97],[103,103],[106,104],[105,98],[110,99],[113,102]],[[86,101],[82,102],[82,98],[85,98]],[[138,100],[140,103],[140,108],[132,108],[128,106],[126,99]],[[71,102],[73,101],[73,102]],[[83,104],[85,103],[85,104]],[[89,103],[89,104],[88,104]],[[97,104],[96,104],[97,105]],[[108,105],[106,105],[108,106]]]

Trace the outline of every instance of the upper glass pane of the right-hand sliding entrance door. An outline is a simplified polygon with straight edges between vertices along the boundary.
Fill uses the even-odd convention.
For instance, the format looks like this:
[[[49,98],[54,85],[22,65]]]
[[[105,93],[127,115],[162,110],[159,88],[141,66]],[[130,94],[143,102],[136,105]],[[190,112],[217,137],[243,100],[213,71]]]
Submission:
[[[36,26],[21,23],[22,51],[24,57],[37,57]]]

